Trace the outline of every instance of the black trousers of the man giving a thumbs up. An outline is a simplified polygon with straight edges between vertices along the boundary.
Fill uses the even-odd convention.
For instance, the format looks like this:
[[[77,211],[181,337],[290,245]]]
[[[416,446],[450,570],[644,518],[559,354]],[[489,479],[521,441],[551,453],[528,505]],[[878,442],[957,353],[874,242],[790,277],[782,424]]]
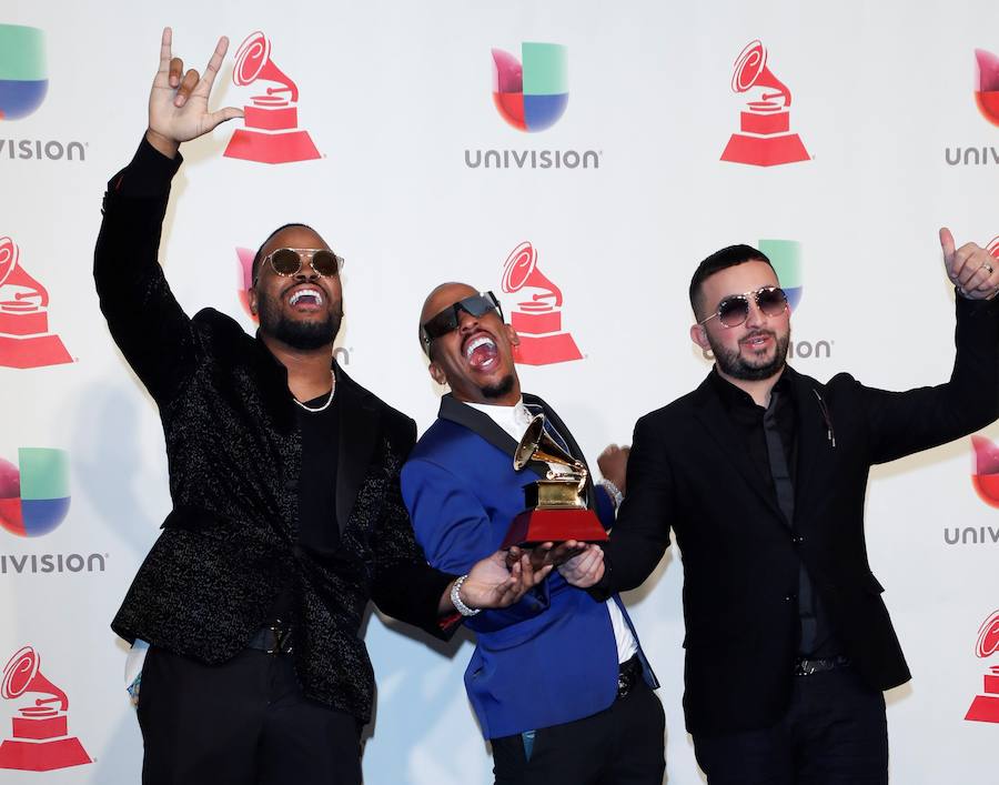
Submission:
[[[851,667],[794,678],[773,727],[694,736],[708,785],[886,785],[885,696]]]

